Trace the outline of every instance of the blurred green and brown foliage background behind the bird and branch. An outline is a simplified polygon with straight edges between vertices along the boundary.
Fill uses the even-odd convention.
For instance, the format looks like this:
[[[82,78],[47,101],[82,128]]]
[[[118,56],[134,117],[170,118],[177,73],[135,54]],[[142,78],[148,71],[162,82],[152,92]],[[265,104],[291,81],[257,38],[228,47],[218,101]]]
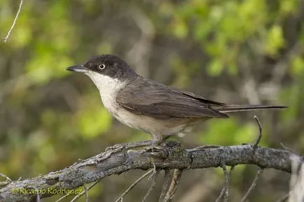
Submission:
[[[19,3],[0,0],[1,36]],[[24,1],[11,37],[0,42],[0,173],[32,178],[115,143],[150,138],[114,120],[88,77],[65,71],[101,54],[118,55],[146,78],[216,101],[290,106],[210,120],[177,138],[184,147],[251,143],[258,115],[261,145],[284,143],[303,153],[303,48],[300,0]],[[256,171],[235,168],[230,201],[240,201]],[[115,201],[143,172],[105,178],[89,192],[90,201]],[[279,199],[289,190],[289,178],[266,170],[250,201]],[[160,175],[148,201],[158,201],[162,180]],[[174,201],[215,201],[223,182],[220,168],[185,171]],[[124,201],[141,201],[149,184],[141,182]]]

